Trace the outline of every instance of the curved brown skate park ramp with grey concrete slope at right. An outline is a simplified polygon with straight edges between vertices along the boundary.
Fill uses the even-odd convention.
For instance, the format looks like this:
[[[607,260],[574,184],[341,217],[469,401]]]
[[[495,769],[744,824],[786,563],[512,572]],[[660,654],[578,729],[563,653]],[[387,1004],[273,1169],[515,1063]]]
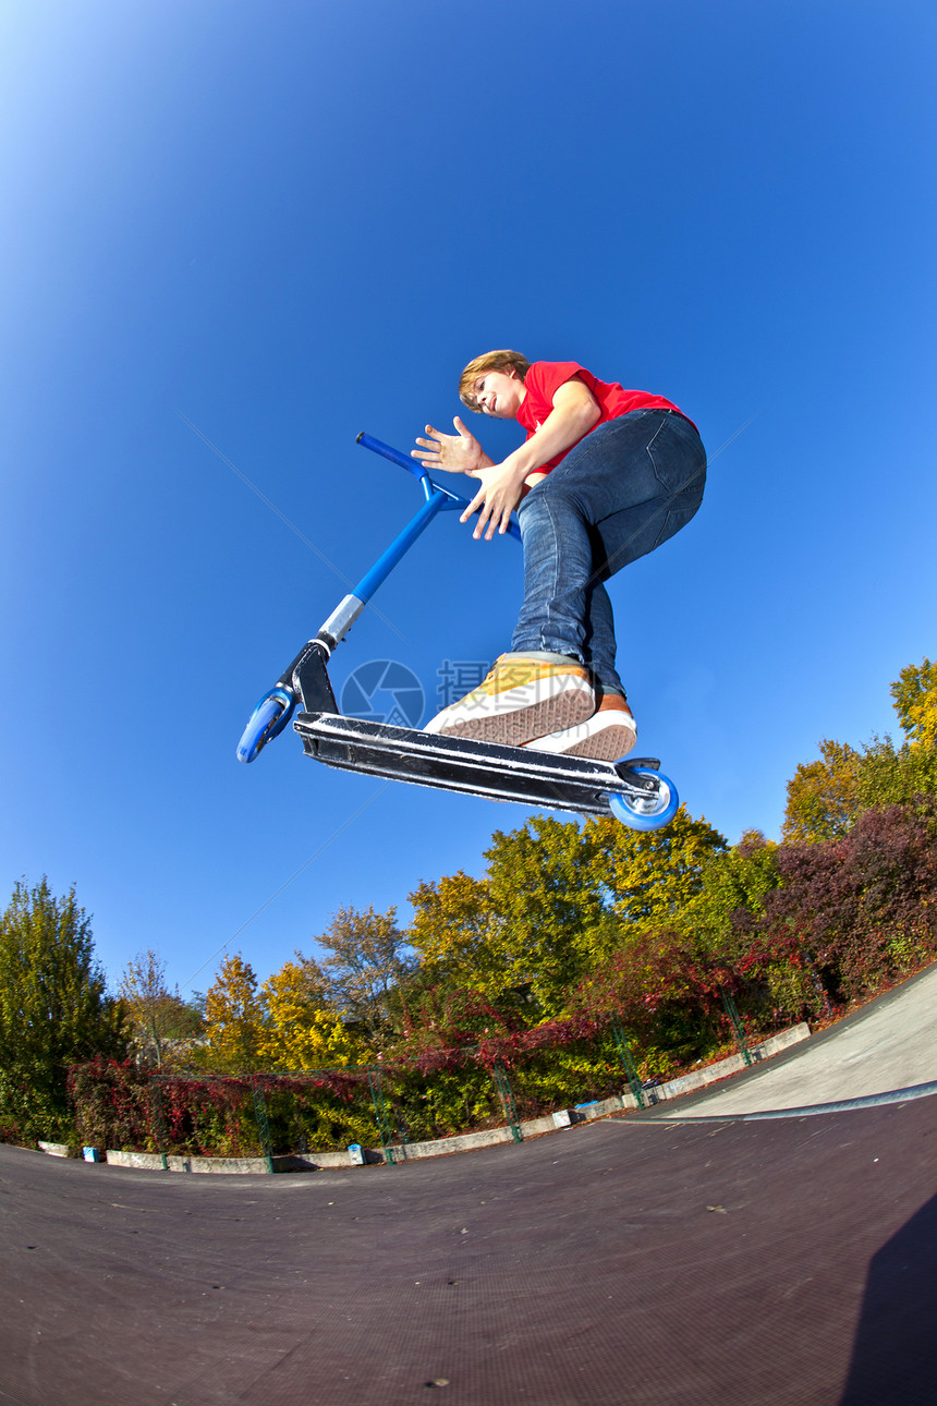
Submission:
[[[0,1403],[933,1403],[937,1101],[702,1112],[726,1091],[306,1175],[0,1147]]]

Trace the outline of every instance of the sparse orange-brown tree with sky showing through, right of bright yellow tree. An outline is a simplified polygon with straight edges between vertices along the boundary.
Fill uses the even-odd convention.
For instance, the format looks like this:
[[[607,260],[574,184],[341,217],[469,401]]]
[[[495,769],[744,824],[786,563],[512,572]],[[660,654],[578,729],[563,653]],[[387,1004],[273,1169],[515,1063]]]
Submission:
[[[320,966],[313,963],[330,1002],[374,1039],[399,1024],[398,993],[413,970],[396,915],[396,908],[339,908],[329,931],[315,939],[332,953]]]

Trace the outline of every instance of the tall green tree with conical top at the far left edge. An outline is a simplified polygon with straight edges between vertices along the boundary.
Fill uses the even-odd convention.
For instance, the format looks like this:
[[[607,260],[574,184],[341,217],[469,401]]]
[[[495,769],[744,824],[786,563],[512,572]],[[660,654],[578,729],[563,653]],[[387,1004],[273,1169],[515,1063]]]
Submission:
[[[126,1053],[124,1010],[107,994],[74,889],[17,884],[0,918],[0,1112],[30,1139],[69,1140],[67,1070]]]

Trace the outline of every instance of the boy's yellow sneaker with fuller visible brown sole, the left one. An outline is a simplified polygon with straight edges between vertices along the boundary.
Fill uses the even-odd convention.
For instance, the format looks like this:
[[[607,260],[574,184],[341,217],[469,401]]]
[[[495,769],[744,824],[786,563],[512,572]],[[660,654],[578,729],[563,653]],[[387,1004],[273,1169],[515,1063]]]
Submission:
[[[576,727],[596,710],[589,673],[563,654],[503,654],[479,688],[443,709],[424,733],[523,747]]]

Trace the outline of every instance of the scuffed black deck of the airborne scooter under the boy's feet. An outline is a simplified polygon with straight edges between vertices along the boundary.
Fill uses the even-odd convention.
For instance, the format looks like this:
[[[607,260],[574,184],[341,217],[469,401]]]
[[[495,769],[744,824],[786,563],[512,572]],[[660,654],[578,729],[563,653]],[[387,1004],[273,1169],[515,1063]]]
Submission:
[[[632,770],[635,766],[656,770],[660,762],[655,758],[597,762],[583,756],[553,756],[525,747],[435,737],[340,713],[298,713],[292,725],[306,755],[327,766],[416,786],[469,792],[487,800],[607,815],[610,794],[638,800],[657,789],[656,778]]]

